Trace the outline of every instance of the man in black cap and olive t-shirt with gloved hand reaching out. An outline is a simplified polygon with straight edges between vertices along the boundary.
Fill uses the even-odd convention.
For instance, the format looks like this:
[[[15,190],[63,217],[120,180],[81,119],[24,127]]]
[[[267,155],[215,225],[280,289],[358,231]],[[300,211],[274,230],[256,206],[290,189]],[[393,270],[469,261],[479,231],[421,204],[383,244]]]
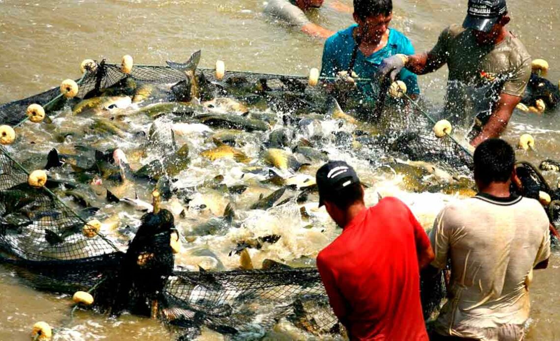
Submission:
[[[525,46],[506,30],[506,0],[469,0],[463,27],[451,25],[427,53],[396,54],[383,61],[379,75],[394,78],[403,68],[426,74],[449,67],[444,110],[452,122],[475,125],[470,144],[499,137],[521,100],[531,75]]]

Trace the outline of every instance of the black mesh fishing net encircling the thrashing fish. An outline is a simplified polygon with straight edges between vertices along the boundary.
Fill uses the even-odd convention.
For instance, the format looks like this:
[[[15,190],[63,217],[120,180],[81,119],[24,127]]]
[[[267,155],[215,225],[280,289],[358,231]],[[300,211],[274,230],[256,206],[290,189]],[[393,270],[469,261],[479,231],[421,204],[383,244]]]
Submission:
[[[264,98],[269,107],[287,115],[324,114],[329,102],[321,83],[311,88],[306,77],[226,72],[223,80],[218,81],[213,70],[199,69],[197,74],[200,84],[217,94],[255,105]],[[125,74],[120,66],[101,62],[94,72],[87,72],[78,80],[80,91],[73,101],[97,96],[104,89],[130,79],[173,85],[184,81],[185,75],[157,66],[134,66],[130,74]],[[21,122],[31,103],[50,102],[54,108],[57,94],[58,88],[53,88],[4,104],[0,106],[0,121],[11,125]],[[65,101],[62,97],[59,100]],[[433,121],[421,110],[411,108],[386,111],[374,118],[369,115],[383,133],[369,140],[366,148],[433,162],[454,174],[468,174],[470,155],[450,137],[436,138]],[[162,258],[158,258],[159,253],[165,247],[133,247],[135,241],[139,242],[138,235],[124,254],[101,233],[90,233],[85,228],[86,219],[52,191],[29,186],[27,171],[4,148],[0,148],[0,172],[0,260],[17,266],[18,274],[38,288],[69,293],[94,288],[92,292],[102,311],[118,313],[129,309],[143,315],[157,311],[162,320],[184,330],[184,339],[199,334],[202,326],[232,338],[259,338],[279,323],[296,326],[310,337],[343,337],[343,328],[330,309],[314,268],[175,271],[169,276],[169,231],[149,239],[163,240],[162,245],[167,245]],[[46,184],[51,189],[61,186],[69,184],[52,179]],[[152,261],[153,266],[149,265]],[[167,270],[161,272],[162,269]],[[429,317],[445,295],[441,276],[422,281],[422,287],[424,314]],[[123,297],[130,301],[123,302]]]

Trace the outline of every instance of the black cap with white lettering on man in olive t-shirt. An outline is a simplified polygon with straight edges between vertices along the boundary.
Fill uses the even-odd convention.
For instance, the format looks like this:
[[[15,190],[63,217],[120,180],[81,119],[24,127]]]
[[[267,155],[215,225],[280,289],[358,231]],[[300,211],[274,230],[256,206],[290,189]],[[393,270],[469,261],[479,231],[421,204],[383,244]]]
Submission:
[[[506,12],[506,0],[469,0],[469,9],[463,27],[489,32]]]

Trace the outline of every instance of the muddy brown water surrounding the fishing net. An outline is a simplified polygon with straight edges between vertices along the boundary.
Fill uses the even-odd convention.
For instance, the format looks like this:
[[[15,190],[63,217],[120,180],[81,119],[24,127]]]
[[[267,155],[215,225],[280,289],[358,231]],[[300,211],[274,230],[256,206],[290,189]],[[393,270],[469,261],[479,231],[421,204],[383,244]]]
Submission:
[[[349,0],[342,0],[351,4]],[[351,15],[338,13],[325,1],[324,8],[313,13],[313,20],[332,30],[352,23]],[[322,41],[307,38],[296,30],[270,22],[260,14],[262,1],[233,0],[137,0],[137,1],[9,1],[0,0],[0,102],[20,99],[57,85],[64,78],[77,78],[78,65],[84,58],[107,58],[119,62],[131,54],[136,63],[164,64],[167,59],[181,60],[195,49],[203,50],[201,66],[212,67],[216,59],[228,69],[306,74],[320,66]],[[511,30],[524,42],[534,58],[547,59],[548,78],[560,79],[560,8],[554,2],[511,2]],[[418,0],[396,1],[393,26],[405,32],[417,50],[429,49],[445,26],[460,23],[464,1]],[[442,101],[446,69],[419,78],[426,96]],[[560,158],[560,124],[556,115],[535,116],[516,113],[506,132],[515,142],[521,133],[535,135],[538,153],[520,153],[520,158],[542,160]],[[351,160],[349,160],[351,161]],[[220,165],[226,168],[228,165]],[[361,174],[366,165],[358,165]],[[203,172],[203,170],[200,170]],[[368,191],[368,203],[375,203],[376,193],[396,195],[405,200],[429,227],[438,209],[456,198],[431,194],[410,195],[393,182],[382,183]],[[269,250],[278,258],[305,255],[314,257],[337,232],[325,212],[318,213],[328,233],[312,231],[293,233],[285,244]],[[274,217],[247,217],[276,224],[285,221]],[[242,233],[241,231],[239,233]],[[249,233],[249,231],[245,231]],[[299,233],[299,234],[298,234]],[[219,244],[218,244],[219,245]],[[218,246],[217,245],[217,246]],[[274,249],[276,247],[276,249]],[[281,249],[282,247],[282,249]],[[255,255],[258,256],[258,255]],[[180,261],[188,263],[186,256]],[[225,259],[234,266],[236,260]],[[529,340],[560,339],[560,256],[553,256],[550,268],[535,272],[531,299],[533,311]],[[39,293],[22,285],[9,269],[0,268],[0,339],[26,340],[31,325],[38,320],[60,326],[68,320],[69,298]],[[212,334],[209,338],[211,338]],[[169,339],[173,338],[159,323],[124,316],[106,320],[88,312],[79,313],[60,339]]]

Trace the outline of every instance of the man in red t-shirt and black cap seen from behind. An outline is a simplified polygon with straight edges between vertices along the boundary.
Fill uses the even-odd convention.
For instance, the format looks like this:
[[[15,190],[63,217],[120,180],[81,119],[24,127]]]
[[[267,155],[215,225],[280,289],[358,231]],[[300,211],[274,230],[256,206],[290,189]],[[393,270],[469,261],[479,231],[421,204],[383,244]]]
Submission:
[[[343,161],[316,175],[319,205],[342,234],[317,257],[330,305],[351,340],[428,340],[419,269],[433,260],[428,236],[396,198],[366,208],[360,179]]]

